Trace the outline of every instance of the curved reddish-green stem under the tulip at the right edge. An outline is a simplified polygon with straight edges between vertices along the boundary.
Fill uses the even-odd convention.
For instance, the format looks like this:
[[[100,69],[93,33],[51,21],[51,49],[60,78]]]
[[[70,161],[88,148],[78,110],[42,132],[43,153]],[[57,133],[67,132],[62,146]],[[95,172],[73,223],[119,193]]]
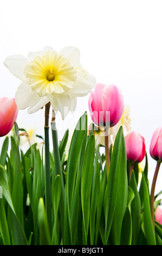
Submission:
[[[157,166],[155,168],[153,180],[152,180],[152,186],[151,186],[151,195],[150,195],[150,208],[151,208],[151,217],[152,217],[152,223],[154,228],[154,192],[155,192],[155,185],[157,182],[158,172],[160,168],[160,162],[157,162]]]

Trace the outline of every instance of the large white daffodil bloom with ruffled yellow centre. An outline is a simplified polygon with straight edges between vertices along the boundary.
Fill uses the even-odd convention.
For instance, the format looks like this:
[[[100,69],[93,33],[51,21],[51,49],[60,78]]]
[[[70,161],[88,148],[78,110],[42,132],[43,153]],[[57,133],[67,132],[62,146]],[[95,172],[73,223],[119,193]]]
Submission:
[[[80,64],[80,51],[67,46],[60,52],[51,47],[30,52],[27,57],[14,55],[4,60],[9,71],[22,81],[15,100],[19,109],[37,112],[51,103],[64,119],[76,108],[77,97],[86,96],[95,87],[95,78]]]

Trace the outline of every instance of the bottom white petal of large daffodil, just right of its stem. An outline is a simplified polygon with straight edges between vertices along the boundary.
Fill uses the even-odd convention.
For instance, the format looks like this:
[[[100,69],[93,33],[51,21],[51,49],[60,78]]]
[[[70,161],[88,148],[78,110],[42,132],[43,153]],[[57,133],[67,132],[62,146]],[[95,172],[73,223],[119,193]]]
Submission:
[[[74,109],[76,100],[71,99],[68,94],[54,94],[48,95],[48,99],[53,107],[54,111],[59,111],[61,113],[62,119],[66,118],[69,111]],[[75,101],[75,102],[74,102]]]

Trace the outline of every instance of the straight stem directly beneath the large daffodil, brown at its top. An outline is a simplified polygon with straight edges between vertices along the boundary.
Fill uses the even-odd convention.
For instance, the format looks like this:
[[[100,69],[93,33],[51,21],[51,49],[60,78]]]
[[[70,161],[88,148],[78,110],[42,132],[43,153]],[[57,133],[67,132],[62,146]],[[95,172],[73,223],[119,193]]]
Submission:
[[[51,228],[51,182],[50,182],[50,154],[49,154],[49,109],[50,103],[45,106],[45,125],[44,125],[44,143],[45,143],[45,204],[46,215]]]

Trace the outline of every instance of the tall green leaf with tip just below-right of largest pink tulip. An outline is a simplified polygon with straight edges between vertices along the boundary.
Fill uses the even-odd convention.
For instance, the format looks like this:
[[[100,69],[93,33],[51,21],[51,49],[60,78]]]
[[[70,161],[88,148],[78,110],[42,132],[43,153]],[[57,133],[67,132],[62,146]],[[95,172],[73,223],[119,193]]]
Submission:
[[[122,126],[120,127],[114,143],[114,149],[111,157],[111,164],[109,168],[108,182],[104,199],[104,212],[105,212],[105,239],[104,244],[107,244],[109,232],[114,216],[114,210],[116,205],[116,198],[118,195],[119,184],[119,172],[122,169],[122,164],[125,166],[125,157],[122,159],[122,155],[125,151],[125,143],[122,138]],[[124,199],[125,200],[125,199]]]

